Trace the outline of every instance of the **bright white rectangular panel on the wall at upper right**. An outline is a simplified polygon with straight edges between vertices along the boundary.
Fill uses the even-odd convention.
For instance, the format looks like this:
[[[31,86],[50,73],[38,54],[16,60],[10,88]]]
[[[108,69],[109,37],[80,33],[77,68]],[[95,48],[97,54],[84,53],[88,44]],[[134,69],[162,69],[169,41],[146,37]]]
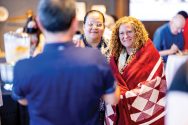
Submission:
[[[141,21],[168,21],[178,11],[188,12],[188,0],[130,0],[129,15]]]

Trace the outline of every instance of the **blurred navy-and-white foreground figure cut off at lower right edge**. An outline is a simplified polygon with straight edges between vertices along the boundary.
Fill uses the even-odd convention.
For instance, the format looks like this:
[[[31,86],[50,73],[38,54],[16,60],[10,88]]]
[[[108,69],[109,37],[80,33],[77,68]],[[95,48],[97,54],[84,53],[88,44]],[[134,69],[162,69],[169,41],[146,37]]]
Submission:
[[[167,94],[165,125],[188,125],[188,61],[177,71]]]

